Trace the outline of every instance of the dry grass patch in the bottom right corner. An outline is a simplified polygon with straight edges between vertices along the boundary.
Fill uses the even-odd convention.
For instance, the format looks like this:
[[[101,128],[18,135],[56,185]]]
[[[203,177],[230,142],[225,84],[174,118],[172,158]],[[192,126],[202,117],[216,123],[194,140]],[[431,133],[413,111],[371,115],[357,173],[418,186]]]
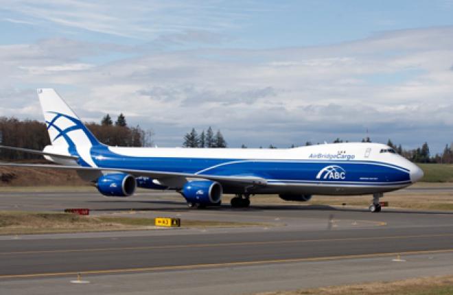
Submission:
[[[358,285],[321,287],[288,292],[267,292],[259,295],[447,295],[453,294],[453,276],[434,276],[395,282],[375,282]]]

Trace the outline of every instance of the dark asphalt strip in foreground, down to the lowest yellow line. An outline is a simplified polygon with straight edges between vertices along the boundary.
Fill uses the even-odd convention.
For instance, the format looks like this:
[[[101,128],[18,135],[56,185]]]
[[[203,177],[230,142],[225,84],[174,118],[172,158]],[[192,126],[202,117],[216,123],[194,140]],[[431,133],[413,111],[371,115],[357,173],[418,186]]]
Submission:
[[[30,240],[29,240],[30,241]],[[146,235],[1,242],[0,279],[250,265],[383,253],[453,252],[453,228]],[[360,256],[362,255],[362,256]],[[396,255],[396,254],[395,254]],[[64,261],[64,263],[63,263]]]

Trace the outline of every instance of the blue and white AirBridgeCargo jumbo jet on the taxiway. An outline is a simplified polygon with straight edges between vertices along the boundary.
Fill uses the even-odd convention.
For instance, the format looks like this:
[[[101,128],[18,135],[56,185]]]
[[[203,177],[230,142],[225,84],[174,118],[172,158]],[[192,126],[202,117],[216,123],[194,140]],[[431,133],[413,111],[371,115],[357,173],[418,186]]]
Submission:
[[[231,207],[249,207],[250,197],[277,194],[306,202],[313,195],[380,198],[423,177],[417,165],[381,143],[325,143],[288,149],[113,147],[100,143],[52,88],[38,88],[51,145],[40,154],[55,164],[1,166],[75,170],[108,197],[128,197],[137,187],[181,193],[190,208],[215,207],[224,193]]]

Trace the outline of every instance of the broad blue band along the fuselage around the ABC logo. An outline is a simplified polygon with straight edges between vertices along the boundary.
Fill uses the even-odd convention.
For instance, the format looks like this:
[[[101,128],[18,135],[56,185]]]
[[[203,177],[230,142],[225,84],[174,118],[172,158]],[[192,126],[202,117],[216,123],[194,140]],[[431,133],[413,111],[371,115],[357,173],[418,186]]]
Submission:
[[[102,168],[177,172],[200,176],[257,176],[269,182],[288,183],[382,186],[410,184],[408,169],[377,161],[140,157],[115,154],[108,150],[108,147],[99,145],[91,149],[91,156],[94,163]],[[318,173],[329,165],[344,171],[343,178],[330,178],[325,174],[316,178]]]

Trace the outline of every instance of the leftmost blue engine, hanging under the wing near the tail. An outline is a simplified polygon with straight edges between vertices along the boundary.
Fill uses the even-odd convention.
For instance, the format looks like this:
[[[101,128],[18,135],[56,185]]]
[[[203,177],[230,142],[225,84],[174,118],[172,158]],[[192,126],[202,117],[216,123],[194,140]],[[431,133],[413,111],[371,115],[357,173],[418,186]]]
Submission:
[[[135,192],[134,176],[125,173],[106,174],[97,179],[97,190],[108,197],[128,197]]]

